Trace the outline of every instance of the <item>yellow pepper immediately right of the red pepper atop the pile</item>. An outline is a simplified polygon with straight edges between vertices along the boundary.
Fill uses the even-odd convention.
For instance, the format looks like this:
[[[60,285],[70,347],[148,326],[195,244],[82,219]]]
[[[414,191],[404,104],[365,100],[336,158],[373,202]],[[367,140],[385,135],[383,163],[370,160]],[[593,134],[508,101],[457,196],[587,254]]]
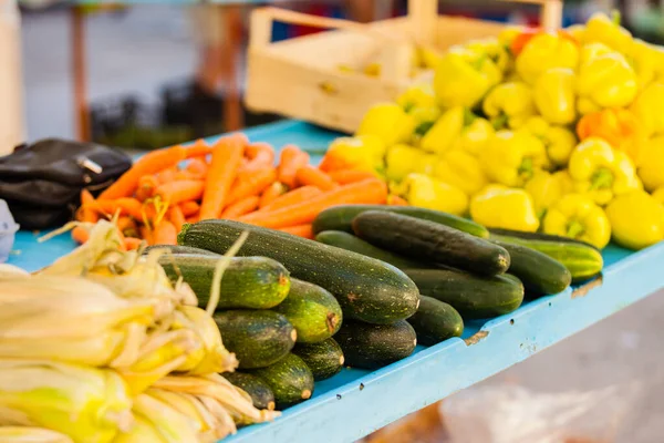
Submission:
[[[529,84],[533,84],[537,78],[548,69],[575,69],[578,64],[578,43],[560,33],[546,32],[532,37],[516,61],[517,72]]]

